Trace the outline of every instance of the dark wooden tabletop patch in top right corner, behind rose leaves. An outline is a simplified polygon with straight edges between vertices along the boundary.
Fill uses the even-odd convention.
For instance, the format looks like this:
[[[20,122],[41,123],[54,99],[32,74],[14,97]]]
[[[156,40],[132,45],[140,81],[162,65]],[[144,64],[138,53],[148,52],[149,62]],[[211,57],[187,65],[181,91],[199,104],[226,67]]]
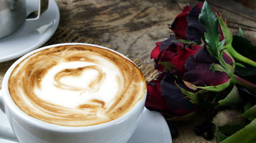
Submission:
[[[191,6],[203,1],[181,0],[183,4]],[[244,36],[256,45],[256,11],[245,7],[244,5],[232,0],[208,0],[210,6],[219,11],[226,19],[227,25],[231,32],[238,34],[238,28],[241,27],[244,31]],[[252,3],[254,4],[254,3]]]

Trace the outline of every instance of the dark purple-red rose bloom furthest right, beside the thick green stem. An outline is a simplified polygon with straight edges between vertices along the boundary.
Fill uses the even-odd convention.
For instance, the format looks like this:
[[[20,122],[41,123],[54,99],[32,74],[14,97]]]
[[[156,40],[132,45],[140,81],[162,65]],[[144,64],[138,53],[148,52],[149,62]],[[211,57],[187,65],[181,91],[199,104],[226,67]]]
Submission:
[[[231,65],[232,59],[223,53],[223,60]],[[206,46],[204,45],[195,55],[189,56],[185,63],[185,69],[188,71],[184,74],[184,83],[190,89],[196,90],[205,89],[212,91],[222,91],[229,85],[229,76],[223,71],[214,71],[211,69],[212,64],[219,64],[218,59],[215,56],[209,54]],[[219,89],[212,86],[220,86]],[[209,87],[207,89],[207,87]]]

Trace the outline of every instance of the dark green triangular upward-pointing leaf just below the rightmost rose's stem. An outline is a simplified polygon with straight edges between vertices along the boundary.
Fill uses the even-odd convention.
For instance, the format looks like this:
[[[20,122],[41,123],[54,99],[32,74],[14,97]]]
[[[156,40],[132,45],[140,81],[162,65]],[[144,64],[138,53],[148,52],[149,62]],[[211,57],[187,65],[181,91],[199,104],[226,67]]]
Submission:
[[[238,88],[236,85],[233,86],[231,92],[223,100],[220,100],[218,103],[220,106],[232,106],[237,105],[243,102],[243,99],[240,97]]]

